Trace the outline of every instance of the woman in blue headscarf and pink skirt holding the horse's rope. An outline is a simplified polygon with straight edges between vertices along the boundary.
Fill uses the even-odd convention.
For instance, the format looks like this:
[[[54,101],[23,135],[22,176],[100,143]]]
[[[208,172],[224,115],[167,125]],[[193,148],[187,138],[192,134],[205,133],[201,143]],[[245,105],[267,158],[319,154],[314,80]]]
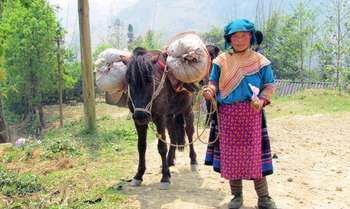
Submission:
[[[215,96],[220,104],[220,171],[234,195],[228,206],[240,208],[242,180],[254,180],[259,209],[275,209],[265,178],[272,172],[264,172],[261,140],[261,111],[275,91],[271,62],[250,48],[256,37],[249,20],[232,21],[224,29],[224,38],[225,48],[233,52],[214,60],[203,96],[207,100]]]

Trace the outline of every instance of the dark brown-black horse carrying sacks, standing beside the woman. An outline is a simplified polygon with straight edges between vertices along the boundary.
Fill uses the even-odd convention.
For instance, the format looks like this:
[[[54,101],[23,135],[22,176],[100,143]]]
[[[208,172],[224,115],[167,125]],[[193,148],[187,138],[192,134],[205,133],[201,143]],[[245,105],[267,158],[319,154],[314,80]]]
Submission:
[[[158,137],[158,152],[162,159],[161,189],[170,184],[169,165],[174,164],[175,147],[169,154],[165,140],[168,130],[172,144],[182,144],[186,131],[189,143],[194,133],[192,104],[194,95],[189,91],[176,92],[167,78],[165,57],[161,52],[148,52],[137,48],[127,61],[128,106],[138,134],[139,163],[131,185],[139,186],[146,170],[146,136],[149,123],[153,121]],[[161,138],[161,139],[160,139]],[[191,166],[197,165],[193,144],[190,145]]]

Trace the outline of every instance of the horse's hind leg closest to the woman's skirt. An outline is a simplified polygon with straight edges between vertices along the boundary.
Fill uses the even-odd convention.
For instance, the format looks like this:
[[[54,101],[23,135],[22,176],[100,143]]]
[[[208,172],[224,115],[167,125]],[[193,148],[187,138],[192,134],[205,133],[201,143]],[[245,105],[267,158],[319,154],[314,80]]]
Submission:
[[[192,107],[189,107],[185,112],[184,112],[184,117],[185,117],[185,130],[186,130],[186,135],[188,137],[188,142],[190,143],[190,159],[191,159],[191,169],[192,171],[197,170],[197,154],[194,151],[194,146],[192,144],[193,141],[193,134],[194,134],[194,115],[192,111]]]

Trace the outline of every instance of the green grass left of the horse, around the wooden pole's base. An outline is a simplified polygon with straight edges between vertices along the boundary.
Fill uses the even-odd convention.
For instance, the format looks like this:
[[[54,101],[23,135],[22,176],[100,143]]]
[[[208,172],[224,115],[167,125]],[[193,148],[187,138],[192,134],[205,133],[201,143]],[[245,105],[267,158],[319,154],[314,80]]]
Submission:
[[[43,188],[23,194],[12,186],[21,182],[9,184],[0,191],[0,208],[128,208],[127,194],[117,188],[136,170],[136,147],[129,117],[103,116],[96,133],[88,134],[82,121],[73,121],[47,131],[41,144],[8,148],[0,166],[9,173],[33,174],[29,177]]]

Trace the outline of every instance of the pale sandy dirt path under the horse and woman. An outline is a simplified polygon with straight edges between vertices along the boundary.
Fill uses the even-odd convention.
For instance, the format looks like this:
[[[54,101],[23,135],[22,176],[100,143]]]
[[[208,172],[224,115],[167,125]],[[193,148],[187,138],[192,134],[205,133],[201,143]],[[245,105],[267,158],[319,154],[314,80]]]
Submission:
[[[268,178],[270,194],[283,209],[350,208],[350,113],[314,115],[269,121],[275,174]],[[147,171],[141,187],[127,186],[129,206],[141,209],[227,208],[226,180],[204,166],[206,146],[197,143],[198,171],[192,172],[188,150],[177,153],[172,184],[159,190],[160,157],[156,143],[148,145]],[[256,208],[253,183],[244,182],[244,207]]]

